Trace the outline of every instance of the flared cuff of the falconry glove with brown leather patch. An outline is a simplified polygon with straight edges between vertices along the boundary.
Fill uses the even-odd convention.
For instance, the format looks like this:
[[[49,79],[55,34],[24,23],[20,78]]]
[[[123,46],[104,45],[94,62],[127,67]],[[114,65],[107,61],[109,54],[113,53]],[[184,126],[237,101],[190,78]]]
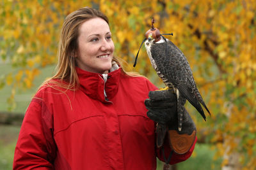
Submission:
[[[169,144],[175,153],[184,154],[193,146],[196,138],[196,127],[186,110],[184,111],[181,131],[178,130],[176,118],[168,122],[168,137]]]

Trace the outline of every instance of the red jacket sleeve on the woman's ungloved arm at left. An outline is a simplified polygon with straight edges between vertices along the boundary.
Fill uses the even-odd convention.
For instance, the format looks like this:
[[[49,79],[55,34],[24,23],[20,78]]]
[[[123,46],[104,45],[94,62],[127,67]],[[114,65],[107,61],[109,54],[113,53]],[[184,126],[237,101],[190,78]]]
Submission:
[[[42,99],[32,99],[15,148],[13,169],[54,169],[52,115]]]

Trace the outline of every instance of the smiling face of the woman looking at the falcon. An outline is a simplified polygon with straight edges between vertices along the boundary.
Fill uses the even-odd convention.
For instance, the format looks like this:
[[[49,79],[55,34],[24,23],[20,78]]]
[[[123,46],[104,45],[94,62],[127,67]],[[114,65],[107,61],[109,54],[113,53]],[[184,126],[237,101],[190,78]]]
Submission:
[[[106,73],[112,66],[114,43],[108,23],[92,18],[79,27],[77,66],[93,73]]]

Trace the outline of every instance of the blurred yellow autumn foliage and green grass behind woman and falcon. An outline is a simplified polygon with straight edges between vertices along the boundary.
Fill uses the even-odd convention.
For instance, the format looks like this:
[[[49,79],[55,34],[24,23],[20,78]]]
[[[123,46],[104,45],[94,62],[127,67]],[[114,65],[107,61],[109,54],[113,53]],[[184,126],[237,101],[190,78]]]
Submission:
[[[0,2],[0,169],[12,169],[20,125],[38,86],[54,73],[61,25],[72,11],[97,8],[109,17],[115,55],[127,71],[164,87],[145,48],[155,18],[186,55],[212,117],[187,103],[198,144],[172,169],[256,169],[256,3],[253,0]],[[158,162],[157,169],[163,164]]]

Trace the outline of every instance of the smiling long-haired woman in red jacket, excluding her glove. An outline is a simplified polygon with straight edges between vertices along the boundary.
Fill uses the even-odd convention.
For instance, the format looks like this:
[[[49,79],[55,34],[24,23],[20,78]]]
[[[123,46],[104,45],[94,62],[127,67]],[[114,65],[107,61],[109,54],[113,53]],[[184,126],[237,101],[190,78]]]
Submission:
[[[100,11],[81,8],[67,16],[56,74],[29,104],[13,169],[156,169],[156,156],[163,160],[164,151],[168,157],[168,142],[156,148],[155,123],[144,104],[157,88],[126,73],[114,50]],[[173,153],[170,163],[188,159],[194,145]]]

